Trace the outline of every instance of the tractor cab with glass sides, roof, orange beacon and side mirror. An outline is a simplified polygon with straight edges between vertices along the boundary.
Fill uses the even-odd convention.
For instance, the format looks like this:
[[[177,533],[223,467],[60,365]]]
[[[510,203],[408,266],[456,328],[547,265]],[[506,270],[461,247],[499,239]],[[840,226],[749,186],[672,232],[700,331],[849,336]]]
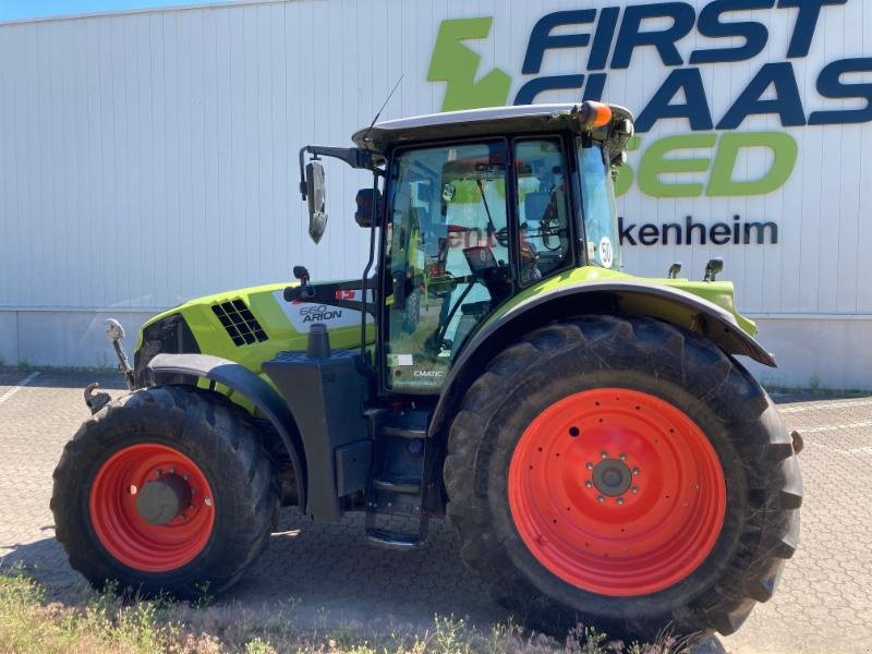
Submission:
[[[438,393],[470,336],[522,290],[582,266],[620,269],[613,177],[632,132],[626,109],[589,101],[388,121],[355,133],[358,148],[303,148],[316,240],[318,159],[374,173],[358,222],[382,228],[367,283],[385,391]]]

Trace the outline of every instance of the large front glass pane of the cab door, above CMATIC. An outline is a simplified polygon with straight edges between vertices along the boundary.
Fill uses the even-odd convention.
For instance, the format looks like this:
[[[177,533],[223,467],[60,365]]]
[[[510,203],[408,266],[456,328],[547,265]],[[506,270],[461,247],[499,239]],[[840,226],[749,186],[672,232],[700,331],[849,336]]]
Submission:
[[[433,392],[509,292],[505,142],[405,150],[390,172],[386,387]]]

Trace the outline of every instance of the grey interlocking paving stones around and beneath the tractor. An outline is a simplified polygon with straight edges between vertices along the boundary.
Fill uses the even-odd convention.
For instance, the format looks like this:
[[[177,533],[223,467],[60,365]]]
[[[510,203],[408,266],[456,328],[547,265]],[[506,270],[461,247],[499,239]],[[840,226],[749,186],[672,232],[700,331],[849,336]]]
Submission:
[[[0,396],[27,373],[0,372]],[[83,581],[55,540],[48,508],[51,472],[64,443],[87,417],[82,389],[111,375],[44,371],[0,403],[0,558],[21,561],[49,597],[74,601]],[[802,537],[775,597],[744,627],[722,639],[743,653],[872,651],[872,401],[783,404],[791,429],[804,432]],[[865,424],[864,424],[865,423]],[[847,425],[847,426],[843,426]],[[282,606],[302,623],[355,620],[425,625],[434,614],[476,625],[505,613],[462,565],[450,523],[434,521],[428,543],[397,553],[367,544],[363,519],[313,524],[288,511],[269,549],[219,602]],[[288,603],[292,607],[288,609]]]

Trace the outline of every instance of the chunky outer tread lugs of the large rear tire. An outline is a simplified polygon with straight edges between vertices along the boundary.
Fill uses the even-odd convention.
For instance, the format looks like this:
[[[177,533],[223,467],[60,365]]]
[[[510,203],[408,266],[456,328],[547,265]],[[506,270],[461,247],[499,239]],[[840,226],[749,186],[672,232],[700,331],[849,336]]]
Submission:
[[[750,373],[711,342],[659,320],[597,315],[542,327],[507,347],[472,384],[449,431],[444,470],[446,512],[460,532],[465,564],[485,578],[497,602],[528,623],[554,630],[553,622],[537,623],[535,615],[554,613],[559,607],[543,600],[542,592],[507,565],[505,557],[494,556],[499,534],[489,531],[487,489],[476,482],[481,476],[479,452],[493,408],[499,407],[506,393],[522,385],[524,375],[530,374],[531,346],[540,360],[584,351],[598,360],[601,367],[622,366],[629,371],[639,361],[666,350],[670,354],[668,361],[675,362],[669,364],[675,366],[674,376],[715,414],[725,421],[735,417],[734,408],[742,403],[749,408],[748,412],[758,415],[748,424],[737,423],[734,432],[741,434],[741,446],[749,452],[742,457],[743,465],[748,470],[755,467],[749,484],[759,482],[754,496],[761,510],[750,511],[742,528],[741,546],[720,582],[688,606],[679,607],[673,616],[674,627],[680,632],[704,633],[713,629],[734,632],[755,602],[772,596],[784,559],[796,549],[797,509],[802,501],[799,468],[777,410]],[[535,610],[535,606],[541,610]],[[663,625],[642,627],[656,631]]]

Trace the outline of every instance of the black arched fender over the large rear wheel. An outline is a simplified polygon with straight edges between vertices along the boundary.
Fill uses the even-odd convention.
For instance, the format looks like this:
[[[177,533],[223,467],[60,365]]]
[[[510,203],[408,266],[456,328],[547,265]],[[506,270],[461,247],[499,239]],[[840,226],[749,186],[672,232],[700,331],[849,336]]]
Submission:
[[[775,358],[725,308],[680,289],[633,280],[585,281],[543,291],[487,320],[464,346],[446,378],[431,422],[443,436],[463,393],[487,363],[522,335],[567,316],[640,315],[707,338],[727,354],[743,354],[775,367]]]

